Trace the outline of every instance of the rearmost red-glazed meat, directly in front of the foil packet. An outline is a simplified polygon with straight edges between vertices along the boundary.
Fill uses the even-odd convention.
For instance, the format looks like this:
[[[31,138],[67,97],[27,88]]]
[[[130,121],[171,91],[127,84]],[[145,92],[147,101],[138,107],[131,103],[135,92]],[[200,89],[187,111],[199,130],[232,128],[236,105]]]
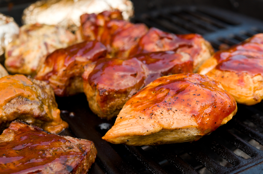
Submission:
[[[132,24],[122,20],[121,12],[83,14],[81,32],[86,40],[99,40],[112,57],[127,57],[148,28],[145,24]]]

